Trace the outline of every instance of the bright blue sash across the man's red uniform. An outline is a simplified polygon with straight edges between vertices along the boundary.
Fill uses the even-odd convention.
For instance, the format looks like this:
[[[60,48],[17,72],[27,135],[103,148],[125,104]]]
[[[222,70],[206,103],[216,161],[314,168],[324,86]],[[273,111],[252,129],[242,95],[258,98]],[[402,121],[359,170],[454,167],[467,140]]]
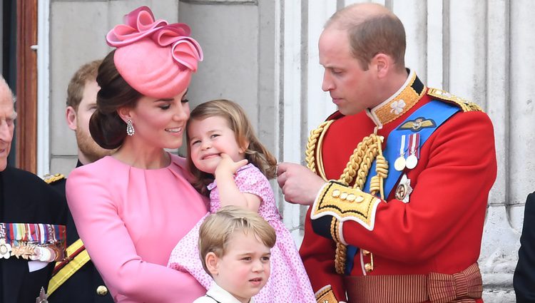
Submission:
[[[387,146],[382,152],[384,158],[386,158],[389,163],[388,176],[386,179],[384,179],[383,185],[385,199],[390,195],[390,192],[392,192],[392,189],[394,188],[394,186],[399,180],[399,177],[403,173],[403,171],[395,170],[393,165],[394,161],[399,157],[399,148],[401,146],[400,142],[402,135],[411,135],[413,133],[419,133],[419,147],[421,148],[427,141],[427,139],[429,139],[429,137],[432,135],[432,133],[434,133],[434,131],[437,130],[437,128],[439,128],[439,126],[442,125],[444,121],[448,120],[452,115],[454,115],[454,113],[457,113],[458,111],[460,111],[460,108],[457,106],[454,106],[449,103],[444,103],[443,101],[432,100],[421,108],[418,108],[416,111],[414,111],[412,115],[409,115],[407,119],[405,119],[397,126],[397,128],[394,128],[394,130],[389,133],[387,138]],[[419,128],[418,130],[400,129],[400,126],[404,125],[404,123],[410,120],[416,120],[417,118],[433,120],[434,126]],[[405,153],[405,155],[407,155],[407,153]],[[377,174],[375,172],[375,165],[376,161],[374,160],[372,163],[372,167],[370,168],[370,173],[368,173],[368,177],[364,185],[364,192],[370,192],[370,180],[372,180],[372,177]],[[355,259],[355,255],[357,254],[357,250],[357,247],[347,245],[347,260],[345,264],[345,274],[347,275],[349,275],[351,273],[351,270],[353,269],[353,261]]]

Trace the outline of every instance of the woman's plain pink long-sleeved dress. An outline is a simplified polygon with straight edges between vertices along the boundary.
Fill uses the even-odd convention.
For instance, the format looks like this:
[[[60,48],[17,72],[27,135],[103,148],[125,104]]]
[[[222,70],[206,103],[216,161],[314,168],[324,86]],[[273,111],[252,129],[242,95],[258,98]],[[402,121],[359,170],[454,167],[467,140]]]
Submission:
[[[73,170],[66,195],[78,234],[116,302],[192,302],[205,290],[165,267],[176,243],[206,214],[185,161],[143,170],[108,156]]]

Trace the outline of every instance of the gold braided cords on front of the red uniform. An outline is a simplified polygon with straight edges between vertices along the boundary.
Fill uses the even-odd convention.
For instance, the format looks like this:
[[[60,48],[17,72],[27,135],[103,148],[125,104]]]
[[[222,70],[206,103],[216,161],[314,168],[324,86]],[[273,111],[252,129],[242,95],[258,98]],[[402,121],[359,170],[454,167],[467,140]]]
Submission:
[[[305,159],[307,161],[307,167],[314,173],[319,173],[323,180],[327,181],[325,170],[323,168],[322,161],[322,143],[327,129],[330,127],[334,120],[327,120],[322,123],[318,128],[310,132],[308,138],[307,150],[305,151]],[[375,195],[379,192],[380,197],[384,200],[383,181],[388,175],[388,163],[382,155],[382,142],[384,137],[377,135],[377,128],[374,129],[374,133],[362,139],[357,145],[357,148],[353,150],[353,154],[350,157],[342,175],[338,179],[338,182],[350,186],[355,179],[353,188],[359,188],[362,190],[366,182],[368,173],[375,159],[377,159],[375,165],[375,172],[377,175],[370,180],[370,194]],[[317,165],[316,165],[317,163]],[[331,222],[331,234],[336,235],[336,231],[340,230],[340,222],[336,217],[332,217]],[[334,233],[333,233],[334,232]],[[338,274],[343,274],[345,269],[345,262],[347,260],[347,247],[340,242],[339,237],[333,237],[336,242],[335,253],[335,268]],[[372,256],[370,256],[373,258]],[[373,259],[372,259],[373,260]]]

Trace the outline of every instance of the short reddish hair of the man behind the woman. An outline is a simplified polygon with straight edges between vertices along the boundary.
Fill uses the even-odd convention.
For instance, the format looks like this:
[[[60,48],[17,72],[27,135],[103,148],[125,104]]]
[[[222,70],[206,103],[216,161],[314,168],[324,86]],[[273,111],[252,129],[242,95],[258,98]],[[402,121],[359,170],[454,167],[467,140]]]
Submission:
[[[78,71],[74,73],[73,78],[68,83],[67,88],[67,106],[74,108],[74,111],[78,111],[78,106],[83,98],[83,89],[86,88],[88,81],[96,81],[96,75],[98,73],[98,66],[101,66],[102,60],[95,60],[89,63],[83,64],[78,68]]]

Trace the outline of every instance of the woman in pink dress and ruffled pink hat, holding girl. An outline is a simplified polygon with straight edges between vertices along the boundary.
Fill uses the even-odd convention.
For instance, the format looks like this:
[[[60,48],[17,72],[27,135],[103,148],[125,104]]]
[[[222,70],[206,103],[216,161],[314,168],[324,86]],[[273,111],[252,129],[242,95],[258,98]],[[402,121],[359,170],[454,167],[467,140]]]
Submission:
[[[185,24],[154,21],[142,6],[106,36],[90,131],[118,151],[74,170],[66,195],[76,228],[116,302],[192,302],[194,277],[169,269],[171,250],[206,214],[188,183],[182,145],[190,77],[203,58]]]

